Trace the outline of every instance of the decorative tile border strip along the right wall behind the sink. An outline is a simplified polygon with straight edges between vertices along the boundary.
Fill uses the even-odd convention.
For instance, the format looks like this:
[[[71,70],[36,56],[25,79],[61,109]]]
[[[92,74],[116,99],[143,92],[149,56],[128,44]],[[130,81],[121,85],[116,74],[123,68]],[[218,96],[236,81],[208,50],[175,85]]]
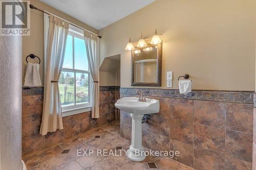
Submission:
[[[254,91],[221,91],[221,90],[192,90],[184,95],[180,94],[177,89],[157,89],[157,88],[120,88],[120,94],[137,95],[136,90],[141,90],[145,95],[162,96],[165,98],[179,98],[203,101],[229,102],[253,104],[256,102]],[[253,95],[254,100],[253,100]],[[254,107],[256,104],[254,104]]]

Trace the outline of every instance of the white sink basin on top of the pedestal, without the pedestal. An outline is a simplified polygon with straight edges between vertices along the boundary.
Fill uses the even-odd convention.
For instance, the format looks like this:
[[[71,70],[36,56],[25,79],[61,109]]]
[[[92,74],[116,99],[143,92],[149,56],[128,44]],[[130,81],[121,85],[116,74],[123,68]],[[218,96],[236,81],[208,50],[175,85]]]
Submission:
[[[133,114],[152,114],[159,112],[159,101],[147,99],[146,102],[139,102],[139,98],[122,98],[117,100],[115,106],[125,112]]]

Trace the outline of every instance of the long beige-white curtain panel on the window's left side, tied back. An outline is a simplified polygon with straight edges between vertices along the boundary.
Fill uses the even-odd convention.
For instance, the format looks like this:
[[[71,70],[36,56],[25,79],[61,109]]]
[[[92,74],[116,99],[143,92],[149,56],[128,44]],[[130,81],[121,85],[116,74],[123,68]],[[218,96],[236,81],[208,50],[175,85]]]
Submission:
[[[40,134],[63,129],[58,80],[63,65],[69,23],[50,15],[45,63],[44,109]]]

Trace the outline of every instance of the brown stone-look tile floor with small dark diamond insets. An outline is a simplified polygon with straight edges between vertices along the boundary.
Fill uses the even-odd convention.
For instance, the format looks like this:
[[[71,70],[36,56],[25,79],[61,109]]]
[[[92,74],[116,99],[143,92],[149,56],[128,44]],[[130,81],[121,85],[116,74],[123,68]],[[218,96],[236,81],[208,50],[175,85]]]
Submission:
[[[97,137],[95,138],[95,136]],[[23,155],[23,160],[28,170],[193,169],[168,157],[147,156],[142,162],[133,162],[125,156],[123,150],[119,150],[120,147],[124,150],[129,149],[130,143],[129,140],[120,137],[119,123],[114,122],[55,143],[51,148]],[[95,152],[90,156],[78,156],[77,150],[81,151],[79,155],[82,155],[83,151],[87,149]],[[102,156],[97,156],[99,149],[102,151]],[[113,156],[111,151],[116,152],[119,156]],[[86,154],[89,155],[89,150]],[[150,168],[150,166],[154,166],[153,162],[156,167]]]

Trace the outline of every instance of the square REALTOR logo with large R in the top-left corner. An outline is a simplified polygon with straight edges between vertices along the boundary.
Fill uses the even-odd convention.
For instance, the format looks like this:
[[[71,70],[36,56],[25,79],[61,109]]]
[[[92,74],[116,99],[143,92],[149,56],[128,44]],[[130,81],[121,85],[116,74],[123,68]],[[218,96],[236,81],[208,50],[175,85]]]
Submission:
[[[30,35],[30,1],[1,1],[1,36]]]

